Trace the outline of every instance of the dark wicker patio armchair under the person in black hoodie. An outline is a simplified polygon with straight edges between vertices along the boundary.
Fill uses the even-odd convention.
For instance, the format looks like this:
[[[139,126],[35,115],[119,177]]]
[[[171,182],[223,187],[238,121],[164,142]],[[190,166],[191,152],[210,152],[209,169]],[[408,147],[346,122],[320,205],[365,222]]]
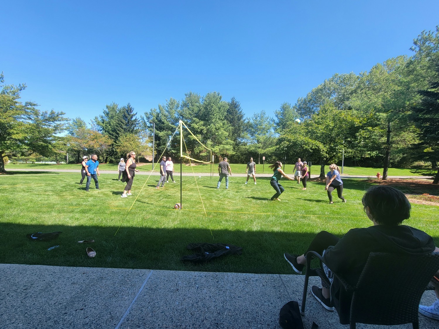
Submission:
[[[306,254],[302,315],[305,315],[309,276],[319,276],[329,286],[329,280],[323,269],[310,268],[312,258],[318,258],[323,262],[322,257],[314,251]],[[350,286],[334,273],[331,295],[333,288],[339,286],[343,290],[341,294],[345,296],[343,301],[340,298],[339,304],[334,303],[340,323],[349,323],[350,328],[355,329],[356,322],[374,325],[399,325],[411,322],[413,328],[418,329],[418,305],[424,291],[434,289],[428,283],[438,268],[438,252],[409,257],[370,253],[356,286]],[[343,312],[349,314],[349,318],[345,316],[343,319]]]

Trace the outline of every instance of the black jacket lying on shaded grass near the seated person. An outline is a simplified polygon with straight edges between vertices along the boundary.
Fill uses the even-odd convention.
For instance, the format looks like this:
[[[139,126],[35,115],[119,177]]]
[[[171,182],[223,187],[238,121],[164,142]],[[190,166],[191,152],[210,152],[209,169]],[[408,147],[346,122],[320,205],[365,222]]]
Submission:
[[[242,254],[241,247],[226,243],[190,243],[187,245],[187,249],[194,250],[195,254],[183,256],[180,258],[181,261],[200,263],[224,255]]]

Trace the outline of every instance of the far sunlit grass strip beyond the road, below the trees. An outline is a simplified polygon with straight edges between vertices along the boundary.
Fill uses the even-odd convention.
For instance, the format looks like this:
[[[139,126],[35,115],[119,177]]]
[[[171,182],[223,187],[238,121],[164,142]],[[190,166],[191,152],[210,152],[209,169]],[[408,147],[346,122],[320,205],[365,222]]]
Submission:
[[[262,174],[264,172],[265,174],[271,173],[270,168],[268,168],[270,164],[265,164],[263,166],[262,164],[256,164],[256,173]],[[81,169],[80,164],[6,164],[6,170],[13,171],[14,168],[17,169],[77,169],[78,171]],[[142,164],[139,169],[142,171],[151,171],[152,164]],[[218,164],[212,165],[213,172],[218,172]],[[246,164],[230,164],[230,168],[232,170],[232,173],[235,174],[244,174]],[[117,170],[117,164],[100,164],[99,165],[100,170]],[[210,164],[198,164],[195,166],[189,166],[183,164],[182,166],[183,172],[194,172],[196,173],[209,173],[211,171],[211,165]],[[286,164],[284,166],[285,172],[288,175],[294,174],[294,164]],[[159,171],[159,166],[156,164],[155,171]],[[325,167],[326,171],[329,171],[329,167]],[[341,170],[341,166],[340,166]],[[421,176],[420,174],[415,174],[410,172],[411,169],[407,168],[389,168],[389,176]],[[180,172],[180,163],[175,164],[175,171]],[[381,175],[383,173],[382,168],[366,168],[366,167],[344,167],[343,168],[343,174],[345,175],[367,175],[374,177],[377,172],[380,172]],[[320,173],[320,166],[313,165],[311,173],[313,175],[318,175]]]

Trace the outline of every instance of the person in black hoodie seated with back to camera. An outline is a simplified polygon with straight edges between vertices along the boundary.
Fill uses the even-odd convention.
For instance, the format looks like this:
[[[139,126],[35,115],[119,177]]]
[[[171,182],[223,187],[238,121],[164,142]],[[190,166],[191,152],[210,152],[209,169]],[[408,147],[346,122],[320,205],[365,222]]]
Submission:
[[[306,251],[316,251],[323,256],[324,270],[331,282],[332,270],[355,286],[371,252],[423,255],[439,251],[427,233],[400,225],[410,217],[411,207],[407,197],[399,190],[389,186],[373,186],[364,194],[362,202],[373,226],[351,229],[341,239],[322,231]],[[306,264],[305,254],[297,257],[284,254],[284,257],[296,273],[302,274]],[[324,308],[334,311],[329,287],[313,286],[311,293]]]

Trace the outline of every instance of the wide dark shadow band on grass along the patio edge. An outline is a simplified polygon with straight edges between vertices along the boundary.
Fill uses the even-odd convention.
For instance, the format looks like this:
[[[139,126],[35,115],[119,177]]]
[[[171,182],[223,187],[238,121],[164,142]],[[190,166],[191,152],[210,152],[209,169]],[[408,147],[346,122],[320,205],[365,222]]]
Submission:
[[[314,233],[251,232],[185,228],[147,228],[126,225],[125,212],[115,226],[68,225],[2,225],[6,239],[2,239],[1,263],[85,266],[105,268],[147,268],[205,272],[282,273],[291,274],[291,266],[284,260],[284,252],[303,253]],[[156,216],[159,222],[162,217]],[[56,240],[32,241],[27,233],[62,233]],[[116,233],[117,232],[117,233]],[[79,240],[95,240],[87,245]],[[189,243],[229,243],[243,248],[241,256],[230,255],[203,264],[180,261],[192,254]],[[47,248],[59,245],[59,248]],[[270,246],[267,248],[267,246]],[[97,256],[87,257],[86,247]]]

